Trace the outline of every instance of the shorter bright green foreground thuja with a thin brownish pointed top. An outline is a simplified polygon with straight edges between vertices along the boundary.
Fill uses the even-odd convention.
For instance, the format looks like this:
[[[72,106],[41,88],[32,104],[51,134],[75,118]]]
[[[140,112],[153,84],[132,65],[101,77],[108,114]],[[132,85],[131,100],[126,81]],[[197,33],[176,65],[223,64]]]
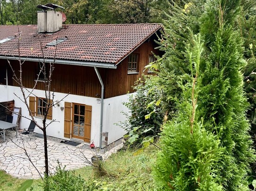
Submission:
[[[192,36],[192,38],[194,38]],[[194,75],[179,78],[182,89],[177,100],[177,115],[163,126],[157,162],[153,171],[159,190],[221,191],[216,176],[222,155],[217,135],[206,131],[203,119],[196,117],[201,78],[200,55],[203,52],[200,38],[195,36],[183,53]]]

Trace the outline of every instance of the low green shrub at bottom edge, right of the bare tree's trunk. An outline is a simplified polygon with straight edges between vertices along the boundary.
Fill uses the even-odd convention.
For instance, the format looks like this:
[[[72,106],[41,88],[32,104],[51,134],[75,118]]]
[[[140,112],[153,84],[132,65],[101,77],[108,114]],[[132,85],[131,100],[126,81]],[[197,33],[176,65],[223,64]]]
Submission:
[[[85,191],[85,183],[74,171],[62,168],[58,162],[55,175],[45,176],[42,187],[44,191]]]

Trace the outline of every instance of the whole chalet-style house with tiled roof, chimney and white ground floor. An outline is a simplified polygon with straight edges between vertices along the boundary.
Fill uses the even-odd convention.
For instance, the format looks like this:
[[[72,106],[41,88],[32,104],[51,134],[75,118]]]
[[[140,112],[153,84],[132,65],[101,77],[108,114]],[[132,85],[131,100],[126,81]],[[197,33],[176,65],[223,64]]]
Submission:
[[[93,141],[101,146],[100,135],[104,132],[110,144],[126,133],[115,123],[125,120],[120,112],[127,111],[122,104],[128,98],[127,92],[132,93],[134,82],[150,72],[144,67],[154,60],[153,53],[161,54],[154,41],[157,33],[160,35],[161,25],[62,25],[59,15],[57,11],[39,12],[38,25],[0,26],[0,101],[14,99],[15,106],[22,108],[22,115],[29,117],[28,109],[18,98],[21,91],[8,64],[9,61],[19,71],[18,60],[25,61],[23,85],[32,90],[39,77],[27,101],[40,122],[39,98],[44,97],[44,85],[38,74],[40,61],[47,58],[45,62],[52,63],[56,59],[51,91],[55,101],[61,101],[49,113],[49,122],[58,122],[50,124],[47,135]],[[20,127],[28,125],[29,120],[22,118]]]

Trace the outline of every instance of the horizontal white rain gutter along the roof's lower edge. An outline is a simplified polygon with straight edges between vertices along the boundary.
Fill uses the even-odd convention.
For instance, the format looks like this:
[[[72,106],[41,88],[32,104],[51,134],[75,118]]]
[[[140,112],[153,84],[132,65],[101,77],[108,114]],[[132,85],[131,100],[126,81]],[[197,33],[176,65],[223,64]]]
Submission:
[[[7,60],[21,60],[21,61],[35,61],[35,62],[46,62],[46,63],[56,63],[56,64],[67,64],[67,65],[76,65],[76,66],[89,66],[89,67],[98,67],[98,68],[107,68],[107,69],[116,69],[115,64],[105,63],[105,62],[93,62],[93,61],[71,61],[63,59],[43,59],[43,58],[33,58],[33,57],[15,57],[15,56],[0,56],[0,59]]]

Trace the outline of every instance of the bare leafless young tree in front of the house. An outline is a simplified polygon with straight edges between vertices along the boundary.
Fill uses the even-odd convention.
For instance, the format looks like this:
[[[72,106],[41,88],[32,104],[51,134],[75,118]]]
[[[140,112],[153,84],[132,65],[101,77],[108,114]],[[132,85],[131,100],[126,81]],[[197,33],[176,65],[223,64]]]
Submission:
[[[53,71],[54,71],[54,65],[55,65],[55,61],[56,61],[56,54],[57,54],[57,45],[55,46],[55,53],[54,53],[54,59],[53,62],[47,63],[47,58],[45,57],[44,54],[44,47],[42,45],[42,41],[41,41],[41,37],[38,35],[39,41],[40,41],[40,47],[41,47],[41,58],[38,58],[39,62],[40,62],[40,69],[39,69],[39,73],[37,74],[37,79],[34,81],[34,85],[32,90],[28,89],[27,87],[25,87],[24,83],[23,83],[23,65],[26,61],[26,59],[22,60],[21,57],[21,32],[18,32],[18,56],[15,57],[15,60],[18,61],[19,64],[19,70],[15,71],[14,67],[12,66],[12,63],[7,59],[8,64],[13,72],[13,77],[12,79],[18,84],[21,92],[22,92],[22,96],[18,96],[16,93],[15,96],[20,99],[25,106],[27,107],[29,114],[31,116],[31,118],[25,116],[25,115],[21,115],[21,117],[24,117],[26,119],[29,119],[31,121],[33,121],[36,126],[42,130],[43,132],[43,139],[44,139],[44,160],[45,160],[45,175],[49,176],[49,161],[48,161],[48,151],[47,151],[47,135],[46,135],[46,129],[47,127],[49,127],[49,125],[52,122],[57,122],[55,119],[51,120],[50,122],[47,122],[47,116],[49,115],[49,111],[52,107],[55,107],[56,105],[58,105],[58,103],[60,101],[62,101],[63,99],[66,98],[66,96],[68,96],[68,94],[60,99],[60,100],[54,100],[55,97],[55,92],[51,91],[51,83],[52,83],[52,75],[53,75]],[[57,41],[58,39],[56,39]],[[33,47],[31,48],[31,51],[33,51]],[[28,57],[29,55],[27,55]],[[26,57],[26,58],[27,58]],[[48,67],[46,67],[48,65]],[[36,88],[37,83],[39,82],[39,76],[42,76],[42,78],[40,78],[40,82],[42,82],[44,85],[44,98],[39,98],[37,95],[34,94],[34,90]],[[39,99],[40,102],[42,103],[41,105],[41,109],[40,109],[40,117],[41,117],[41,122],[42,124],[38,123],[36,121],[36,119],[33,116],[33,113],[31,111],[31,108],[29,107],[29,102],[27,101],[27,99],[29,98],[29,96],[33,95],[34,97],[36,97],[36,99]]]

